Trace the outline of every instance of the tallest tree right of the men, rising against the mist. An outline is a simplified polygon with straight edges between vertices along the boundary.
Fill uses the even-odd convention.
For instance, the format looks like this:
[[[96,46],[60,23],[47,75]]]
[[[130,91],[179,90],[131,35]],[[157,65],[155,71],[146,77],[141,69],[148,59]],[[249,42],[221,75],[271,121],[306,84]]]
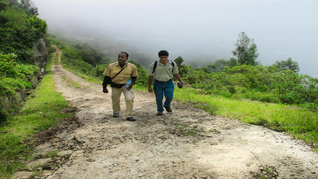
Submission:
[[[232,54],[237,57],[240,64],[253,66],[259,64],[259,62],[255,61],[259,56],[259,53],[257,53],[257,47],[254,43],[254,39],[250,39],[245,32],[239,33],[239,38],[234,46],[235,49],[232,51]]]

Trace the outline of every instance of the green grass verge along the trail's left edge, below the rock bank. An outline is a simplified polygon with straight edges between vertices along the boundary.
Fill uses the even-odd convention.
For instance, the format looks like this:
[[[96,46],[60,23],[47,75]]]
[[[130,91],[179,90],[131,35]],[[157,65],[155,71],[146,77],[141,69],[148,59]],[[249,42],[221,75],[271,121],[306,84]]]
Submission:
[[[52,60],[52,56],[49,59]],[[47,63],[47,75],[32,94],[35,97],[28,99],[19,114],[0,127],[0,131],[11,130],[11,132],[0,133],[0,178],[8,178],[16,171],[28,169],[27,165],[22,164],[21,161],[32,159],[33,151],[30,144],[33,135],[55,127],[58,121],[70,117],[70,115],[73,116],[73,114],[59,113],[61,109],[69,106],[64,97],[54,91],[53,72],[49,70],[50,68],[51,63]],[[38,114],[39,112],[43,114]],[[44,117],[44,115],[48,116]],[[12,161],[12,163],[2,161]]]

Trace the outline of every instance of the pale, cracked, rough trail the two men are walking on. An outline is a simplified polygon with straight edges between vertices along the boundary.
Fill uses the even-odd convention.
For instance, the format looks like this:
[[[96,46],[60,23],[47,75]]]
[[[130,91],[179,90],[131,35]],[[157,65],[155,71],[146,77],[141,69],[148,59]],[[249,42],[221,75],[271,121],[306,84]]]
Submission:
[[[123,113],[113,118],[111,93],[102,93],[100,84],[61,65],[52,63],[51,70],[56,90],[79,107],[76,117],[82,125],[72,141],[77,149],[50,179],[318,178],[318,155],[287,134],[211,116],[176,101],[172,113],[156,116],[154,95],[139,91],[134,91],[137,120],[126,121]],[[68,86],[63,75],[81,87]],[[197,133],[184,135],[187,131]]]

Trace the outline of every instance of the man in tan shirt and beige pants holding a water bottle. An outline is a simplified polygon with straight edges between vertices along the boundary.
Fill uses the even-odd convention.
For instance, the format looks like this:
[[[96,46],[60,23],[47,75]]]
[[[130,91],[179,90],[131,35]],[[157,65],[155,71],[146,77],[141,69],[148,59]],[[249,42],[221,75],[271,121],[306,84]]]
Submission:
[[[120,113],[120,97],[121,93],[125,96],[126,111],[125,116],[128,121],[135,121],[136,118],[133,117],[133,107],[134,107],[134,93],[131,89],[137,79],[137,69],[134,64],[128,63],[128,54],[126,52],[121,52],[118,54],[118,62],[111,63],[107,66],[103,75],[103,92],[108,93],[107,84],[111,80],[110,87],[112,88],[112,108],[113,117],[119,117]],[[128,88],[125,88],[125,84],[131,78],[131,84]]]

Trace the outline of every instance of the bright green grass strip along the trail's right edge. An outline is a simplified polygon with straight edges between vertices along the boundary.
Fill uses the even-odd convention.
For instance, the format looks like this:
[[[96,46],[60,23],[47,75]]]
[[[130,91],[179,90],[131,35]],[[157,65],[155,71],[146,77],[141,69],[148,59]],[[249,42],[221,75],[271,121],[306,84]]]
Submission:
[[[148,92],[146,88],[138,86],[134,86],[133,89]],[[287,109],[286,105],[283,104],[247,102],[221,96],[204,95],[189,88],[175,88],[174,100],[191,103],[197,108],[210,112],[211,115],[221,115],[241,120],[243,123],[263,125],[288,132],[307,143],[318,143],[318,111]],[[318,152],[317,145],[315,151]]]

